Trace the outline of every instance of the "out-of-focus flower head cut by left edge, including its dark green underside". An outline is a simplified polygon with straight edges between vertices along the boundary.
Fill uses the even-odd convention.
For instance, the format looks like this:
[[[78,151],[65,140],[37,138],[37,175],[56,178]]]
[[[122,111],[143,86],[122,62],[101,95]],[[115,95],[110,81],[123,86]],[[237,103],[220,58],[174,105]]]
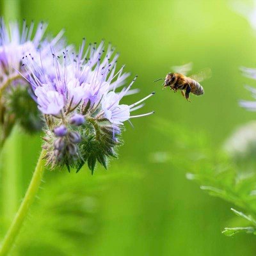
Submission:
[[[13,124],[19,122],[26,131],[41,128],[35,102],[28,94],[26,69],[23,67],[25,56],[33,55],[35,61],[47,59],[51,47],[58,51],[63,45],[63,31],[55,38],[44,38],[47,24],[40,22],[34,29],[24,20],[20,31],[18,22],[5,24],[0,18],[0,122],[1,140],[12,131]],[[23,60],[22,60],[23,58]],[[29,102],[30,101],[30,102]]]

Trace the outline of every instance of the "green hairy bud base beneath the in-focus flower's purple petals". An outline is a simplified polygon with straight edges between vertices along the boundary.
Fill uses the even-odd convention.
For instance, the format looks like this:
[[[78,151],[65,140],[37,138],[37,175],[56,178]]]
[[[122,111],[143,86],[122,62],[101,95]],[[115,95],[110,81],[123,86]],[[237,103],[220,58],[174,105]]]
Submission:
[[[79,172],[87,163],[93,174],[97,162],[107,169],[109,159],[117,158],[116,149],[122,145],[121,128],[113,127],[108,119],[91,116],[85,118],[86,122],[78,127],[66,124],[67,134],[62,138],[56,138],[52,130],[58,127],[58,123],[51,116],[45,115],[48,129],[45,129],[43,147],[47,152],[47,166],[51,166],[52,169],[67,166],[68,172],[70,168],[75,168],[76,172]],[[79,138],[77,142],[70,140],[72,134]]]

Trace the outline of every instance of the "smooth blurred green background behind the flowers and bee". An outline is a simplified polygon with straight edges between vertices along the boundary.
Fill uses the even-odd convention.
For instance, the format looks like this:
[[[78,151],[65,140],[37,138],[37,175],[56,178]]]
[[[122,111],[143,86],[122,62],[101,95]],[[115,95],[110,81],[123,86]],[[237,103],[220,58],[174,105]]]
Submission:
[[[84,36],[87,42],[104,38],[115,45],[119,67],[126,65],[130,79],[139,75],[134,88],[140,93],[125,100],[134,102],[155,91],[143,111],[156,113],[134,120],[134,129],[126,124],[125,145],[108,171],[98,166],[93,176],[86,167],[77,174],[47,172],[12,255],[255,255],[252,235],[221,234],[232,218],[232,205],[187,180],[186,173],[195,167],[189,160],[193,147],[187,154],[179,152],[190,136],[198,143],[205,140],[202,151],[218,152],[237,125],[256,117],[237,103],[250,99],[243,85],[254,85],[239,67],[256,67],[256,32],[234,12],[232,2],[15,3],[19,6],[11,7],[7,17],[12,4],[7,8],[0,0],[1,15],[45,20],[53,35],[65,28],[67,42],[76,47]],[[163,91],[161,81],[153,83],[173,65],[190,61],[193,72],[212,70],[211,79],[202,83],[202,97],[192,96],[189,103],[180,93]],[[171,129],[161,129],[163,123]],[[28,187],[41,142],[17,130],[6,145],[0,235]]]

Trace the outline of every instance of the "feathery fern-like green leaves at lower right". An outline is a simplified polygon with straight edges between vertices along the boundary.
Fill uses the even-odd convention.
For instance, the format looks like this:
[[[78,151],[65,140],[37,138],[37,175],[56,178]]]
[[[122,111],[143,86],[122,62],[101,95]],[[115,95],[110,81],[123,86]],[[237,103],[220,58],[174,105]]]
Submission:
[[[175,144],[179,155],[188,157],[190,163],[187,166],[187,178],[195,180],[200,188],[227,202],[240,207],[248,215],[234,209],[237,216],[243,217],[252,227],[225,228],[223,234],[232,236],[237,232],[256,234],[256,172],[251,168],[241,169],[243,163],[236,163],[232,157],[228,157],[223,150],[211,148],[211,143],[206,136],[186,128],[180,129],[178,125],[170,124],[164,120],[158,120],[157,129],[163,134],[168,132],[169,140]],[[248,159],[246,159],[248,161]],[[178,161],[173,157],[172,161]],[[252,159],[254,161],[254,159]],[[248,166],[244,164],[244,166]],[[249,164],[249,166],[252,166]]]

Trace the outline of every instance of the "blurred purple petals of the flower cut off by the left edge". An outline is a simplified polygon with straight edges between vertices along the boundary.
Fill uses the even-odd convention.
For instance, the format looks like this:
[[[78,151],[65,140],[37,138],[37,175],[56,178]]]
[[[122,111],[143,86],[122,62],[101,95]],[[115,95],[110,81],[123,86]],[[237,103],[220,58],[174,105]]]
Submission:
[[[41,22],[35,32],[33,28],[34,22],[27,26],[26,21],[23,22],[21,30],[18,22],[10,22],[6,26],[3,18],[0,17],[0,87],[5,87],[10,81],[17,79],[19,83],[25,84],[26,81],[21,79],[22,76],[26,76],[22,63],[25,63],[31,56],[36,61],[40,61],[40,55],[44,58],[52,46],[55,45],[56,49],[61,47],[60,39],[63,31],[50,42],[43,39],[47,24]]]

